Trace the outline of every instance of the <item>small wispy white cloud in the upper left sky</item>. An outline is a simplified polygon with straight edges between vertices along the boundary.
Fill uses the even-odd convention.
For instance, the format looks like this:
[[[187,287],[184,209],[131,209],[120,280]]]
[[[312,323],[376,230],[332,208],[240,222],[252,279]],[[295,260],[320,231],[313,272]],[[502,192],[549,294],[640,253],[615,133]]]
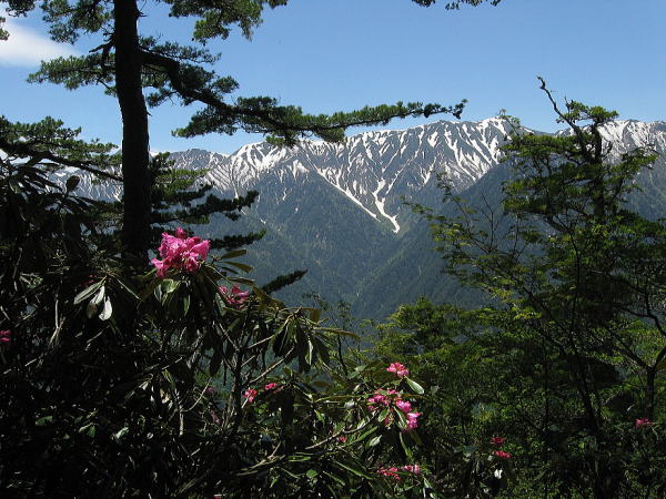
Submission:
[[[3,12],[0,11],[0,16]],[[9,40],[0,41],[0,65],[37,67],[41,61],[59,57],[75,55],[73,47],[56,43],[48,35],[21,26],[20,21],[8,18],[4,29]]]

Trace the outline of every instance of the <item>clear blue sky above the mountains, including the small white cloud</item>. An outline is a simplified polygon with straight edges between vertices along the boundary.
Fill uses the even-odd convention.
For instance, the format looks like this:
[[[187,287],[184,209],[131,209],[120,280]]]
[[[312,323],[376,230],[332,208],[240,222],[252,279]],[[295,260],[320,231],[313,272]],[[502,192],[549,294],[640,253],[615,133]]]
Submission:
[[[498,7],[460,11],[440,3],[291,0],[265,13],[252,42],[235,33],[211,44],[222,53],[215,70],[239,81],[239,95],[276,96],[312,113],[398,100],[453,104],[467,99],[464,120],[506,109],[527,126],[552,131],[557,124],[538,90],[539,74],[559,98],[615,109],[622,118],[666,120],[664,0],[503,0]],[[188,22],[165,20],[153,2],[143,9],[144,34],[189,39]],[[119,143],[118,105],[101,88],[70,92],[26,83],[40,59],[85,53],[98,40],[53,45],[39,16],[10,19],[8,29],[13,40],[0,42],[0,114],[14,121],[52,115],[81,126],[87,139]],[[244,133],[171,136],[193,109],[152,110],[151,149],[233,152],[261,140]],[[398,120],[385,128],[442,118],[452,119]]]

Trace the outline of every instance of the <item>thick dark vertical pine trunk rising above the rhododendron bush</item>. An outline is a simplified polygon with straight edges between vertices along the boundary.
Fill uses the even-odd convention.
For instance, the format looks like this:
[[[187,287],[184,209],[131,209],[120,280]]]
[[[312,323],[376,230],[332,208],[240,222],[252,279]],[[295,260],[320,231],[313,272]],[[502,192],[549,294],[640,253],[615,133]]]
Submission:
[[[141,85],[139,9],[134,0],[114,0],[115,86],[122,115],[123,217],[121,242],[128,266],[148,263],[150,175],[148,109]]]

